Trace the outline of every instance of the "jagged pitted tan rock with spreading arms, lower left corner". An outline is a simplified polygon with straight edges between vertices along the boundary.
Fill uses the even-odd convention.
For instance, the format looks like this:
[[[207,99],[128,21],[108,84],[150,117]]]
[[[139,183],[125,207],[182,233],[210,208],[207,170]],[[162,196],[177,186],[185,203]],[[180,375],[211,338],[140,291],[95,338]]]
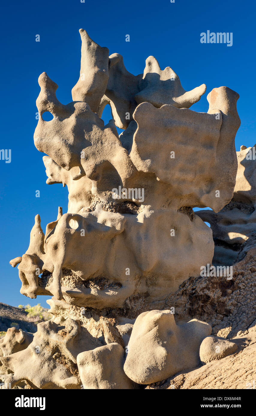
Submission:
[[[40,322],[28,348],[0,357],[12,388],[26,380],[32,388],[79,389],[76,357],[86,349],[100,345],[98,339],[73,319]],[[0,367],[2,369],[2,367]]]

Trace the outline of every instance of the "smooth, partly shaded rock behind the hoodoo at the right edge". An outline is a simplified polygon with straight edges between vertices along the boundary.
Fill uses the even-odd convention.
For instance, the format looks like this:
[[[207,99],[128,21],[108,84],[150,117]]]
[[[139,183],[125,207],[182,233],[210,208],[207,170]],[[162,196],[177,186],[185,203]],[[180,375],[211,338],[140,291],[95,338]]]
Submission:
[[[243,260],[256,238],[256,145],[236,152],[238,170],[231,201],[218,213],[197,215],[211,224],[215,242],[213,264],[232,265]]]

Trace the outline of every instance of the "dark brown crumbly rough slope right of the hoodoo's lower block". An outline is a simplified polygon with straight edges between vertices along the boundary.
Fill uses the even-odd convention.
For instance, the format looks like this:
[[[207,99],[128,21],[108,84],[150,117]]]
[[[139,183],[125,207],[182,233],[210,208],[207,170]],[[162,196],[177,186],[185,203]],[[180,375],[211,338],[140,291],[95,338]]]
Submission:
[[[233,278],[196,277],[184,282],[166,298],[166,307],[175,306],[176,320],[200,319],[212,333],[233,338],[246,334],[256,324],[256,247],[233,265]]]

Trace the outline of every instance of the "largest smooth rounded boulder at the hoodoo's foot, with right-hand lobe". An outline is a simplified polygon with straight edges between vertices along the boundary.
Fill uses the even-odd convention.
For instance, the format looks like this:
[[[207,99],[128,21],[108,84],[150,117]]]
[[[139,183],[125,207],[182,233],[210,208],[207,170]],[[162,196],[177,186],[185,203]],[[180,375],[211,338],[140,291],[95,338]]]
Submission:
[[[200,344],[210,334],[211,326],[197,319],[178,326],[169,310],[144,312],[133,325],[125,374],[138,384],[150,384],[196,367]]]

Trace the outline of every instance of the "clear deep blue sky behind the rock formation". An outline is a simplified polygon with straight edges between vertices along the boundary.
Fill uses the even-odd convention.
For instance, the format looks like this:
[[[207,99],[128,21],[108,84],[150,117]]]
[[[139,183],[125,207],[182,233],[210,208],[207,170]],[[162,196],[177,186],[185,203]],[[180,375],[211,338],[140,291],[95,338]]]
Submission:
[[[47,72],[59,86],[63,104],[72,101],[71,89],[80,69],[82,27],[110,54],[123,55],[129,72],[140,74],[153,55],[161,69],[171,66],[186,90],[205,83],[206,94],[191,107],[208,110],[206,95],[226,85],[240,94],[241,127],[236,149],[256,143],[255,20],[253,1],[226,0],[80,0],[11,1],[1,6],[0,149],[12,149],[11,163],[0,161],[1,282],[0,302],[47,306],[46,296],[30,300],[20,294],[18,269],[9,260],[28,248],[34,217],[42,228],[55,220],[58,206],[66,212],[67,188],[46,185],[42,156],[33,144],[37,120],[38,76]],[[201,32],[232,32],[233,46],[201,44]],[[35,35],[40,42],[35,42]],[[130,42],[125,42],[125,35]],[[103,119],[108,121],[110,111]],[[40,198],[35,191],[40,190]]]

